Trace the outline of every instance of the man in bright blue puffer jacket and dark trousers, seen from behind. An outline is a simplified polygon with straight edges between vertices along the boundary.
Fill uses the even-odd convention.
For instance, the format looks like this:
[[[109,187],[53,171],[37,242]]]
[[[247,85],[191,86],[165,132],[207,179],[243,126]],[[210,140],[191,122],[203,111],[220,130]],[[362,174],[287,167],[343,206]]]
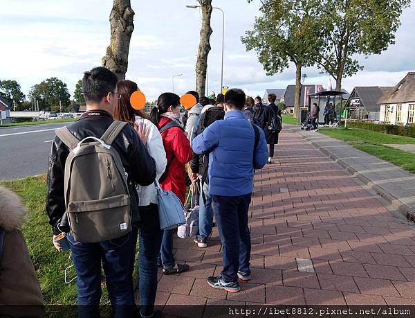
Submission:
[[[228,292],[239,292],[238,278],[251,279],[248,208],[254,169],[263,168],[268,160],[261,129],[255,148],[254,127],[242,112],[245,98],[241,89],[230,89],[225,94],[225,119],[215,121],[193,139],[194,153],[210,153],[209,192],[223,245],[223,271],[221,276],[208,277],[208,283]]]

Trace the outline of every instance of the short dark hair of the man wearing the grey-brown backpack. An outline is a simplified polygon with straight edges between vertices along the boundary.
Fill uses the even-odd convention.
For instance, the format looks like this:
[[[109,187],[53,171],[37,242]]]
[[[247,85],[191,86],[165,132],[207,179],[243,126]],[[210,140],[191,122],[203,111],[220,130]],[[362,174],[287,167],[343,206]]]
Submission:
[[[110,91],[115,91],[118,78],[116,74],[105,67],[94,67],[84,72],[82,78],[82,93],[86,102],[101,103]]]

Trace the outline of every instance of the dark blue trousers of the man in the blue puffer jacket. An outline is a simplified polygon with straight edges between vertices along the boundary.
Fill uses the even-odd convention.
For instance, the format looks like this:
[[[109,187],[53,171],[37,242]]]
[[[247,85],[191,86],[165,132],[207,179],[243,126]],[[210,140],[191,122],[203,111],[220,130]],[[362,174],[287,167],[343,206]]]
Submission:
[[[250,232],[248,209],[252,193],[238,197],[212,195],[214,216],[223,249],[222,278],[238,280],[238,270],[250,274]]]

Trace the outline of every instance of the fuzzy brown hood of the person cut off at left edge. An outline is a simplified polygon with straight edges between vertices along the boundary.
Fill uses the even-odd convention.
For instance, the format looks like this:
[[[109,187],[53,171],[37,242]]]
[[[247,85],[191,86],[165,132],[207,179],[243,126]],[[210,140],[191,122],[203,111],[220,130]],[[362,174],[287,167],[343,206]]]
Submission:
[[[24,221],[26,208],[16,193],[0,186],[0,227],[6,231],[18,229]]]

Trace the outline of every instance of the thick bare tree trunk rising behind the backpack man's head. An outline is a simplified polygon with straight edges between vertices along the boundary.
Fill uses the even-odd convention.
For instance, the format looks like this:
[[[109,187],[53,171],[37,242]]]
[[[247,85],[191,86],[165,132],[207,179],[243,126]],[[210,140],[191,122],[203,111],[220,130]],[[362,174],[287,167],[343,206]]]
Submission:
[[[102,66],[116,73],[118,80],[124,80],[127,73],[129,44],[134,30],[133,17],[130,0],[114,0],[109,15],[111,44],[102,58]]]

